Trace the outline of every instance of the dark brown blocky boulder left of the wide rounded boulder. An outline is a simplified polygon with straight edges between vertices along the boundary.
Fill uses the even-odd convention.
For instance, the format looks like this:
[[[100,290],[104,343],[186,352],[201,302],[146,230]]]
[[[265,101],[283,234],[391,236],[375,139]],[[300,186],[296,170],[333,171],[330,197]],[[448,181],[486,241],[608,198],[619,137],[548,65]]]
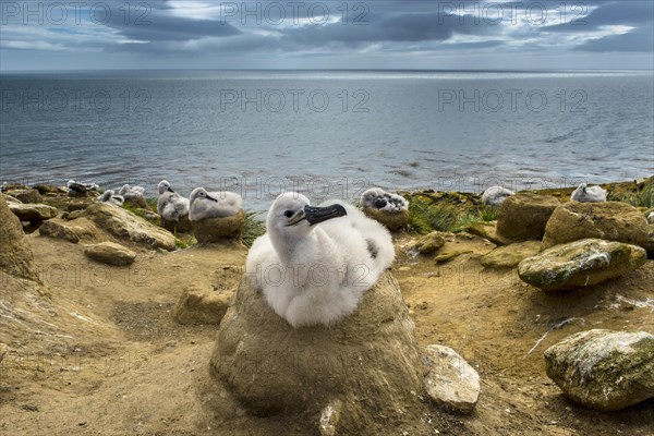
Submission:
[[[497,233],[513,242],[542,240],[547,220],[559,201],[552,195],[520,192],[499,208]]]

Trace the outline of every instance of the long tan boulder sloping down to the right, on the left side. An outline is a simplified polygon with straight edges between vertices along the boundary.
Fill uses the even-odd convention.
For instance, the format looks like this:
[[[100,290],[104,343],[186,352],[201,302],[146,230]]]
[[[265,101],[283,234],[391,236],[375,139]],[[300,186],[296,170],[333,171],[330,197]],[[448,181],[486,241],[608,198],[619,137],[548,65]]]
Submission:
[[[175,249],[174,237],[170,232],[120,206],[110,203],[94,203],[86,208],[84,217],[117,238],[130,240],[153,250],[173,251]]]

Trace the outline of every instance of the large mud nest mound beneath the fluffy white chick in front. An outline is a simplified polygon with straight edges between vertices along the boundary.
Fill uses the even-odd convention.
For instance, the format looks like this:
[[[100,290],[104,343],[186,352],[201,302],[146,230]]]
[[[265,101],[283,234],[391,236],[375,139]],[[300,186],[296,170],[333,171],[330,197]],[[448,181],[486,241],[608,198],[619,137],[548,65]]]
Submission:
[[[328,434],[338,435],[378,434],[420,410],[426,374],[409,310],[388,271],[352,315],[331,327],[299,329],[243,278],[220,323],[210,370],[250,413],[312,416],[306,433],[336,425]],[[330,405],[340,410],[338,419]]]

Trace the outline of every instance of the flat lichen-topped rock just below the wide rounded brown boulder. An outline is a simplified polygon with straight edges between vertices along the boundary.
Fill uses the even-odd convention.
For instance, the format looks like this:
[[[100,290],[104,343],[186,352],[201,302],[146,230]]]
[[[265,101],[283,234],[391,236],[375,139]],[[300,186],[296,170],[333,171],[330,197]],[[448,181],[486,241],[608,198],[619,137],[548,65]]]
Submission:
[[[543,290],[594,286],[640,268],[647,259],[640,246],[601,239],[556,245],[518,265],[520,278]]]

